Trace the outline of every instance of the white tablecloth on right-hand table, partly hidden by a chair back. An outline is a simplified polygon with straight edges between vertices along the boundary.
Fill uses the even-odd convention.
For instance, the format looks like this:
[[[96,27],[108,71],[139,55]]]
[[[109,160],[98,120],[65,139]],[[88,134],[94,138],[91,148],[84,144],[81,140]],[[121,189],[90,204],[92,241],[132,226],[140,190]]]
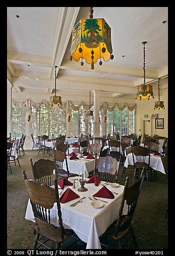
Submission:
[[[148,158],[147,157],[146,157],[146,162],[148,163]],[[124,163],[124,167],[127,168],[128,165],[134,165],[134,163],[133,163],[133,154],[132,153],[127,155],[127,158],[126,158],[125,163]],[[152,169],[158,170],[159,172],[161,172],[163,174],[166,174],[161,157],[151,154],[150,166],[152,167]]]

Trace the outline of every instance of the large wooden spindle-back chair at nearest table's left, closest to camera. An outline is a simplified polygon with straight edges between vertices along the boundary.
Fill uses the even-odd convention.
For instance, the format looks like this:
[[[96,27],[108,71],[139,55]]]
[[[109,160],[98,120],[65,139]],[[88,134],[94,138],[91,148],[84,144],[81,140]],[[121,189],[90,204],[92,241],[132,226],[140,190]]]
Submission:
[[[23,170],[23,177],[36,221],[33,249],[43,247],[53,249],[50,244],[47,245],[47,242],[50,241],[55,243],[55,248],[61,248],[63,241],[70,238],[74,231],[64,229],[57,180],[54,179],[54,188],[50,188],[35,180],[27,180],[25,170]],[[52,224],[50,210],[54,207],[54,204],[57,207],[59,226]]]

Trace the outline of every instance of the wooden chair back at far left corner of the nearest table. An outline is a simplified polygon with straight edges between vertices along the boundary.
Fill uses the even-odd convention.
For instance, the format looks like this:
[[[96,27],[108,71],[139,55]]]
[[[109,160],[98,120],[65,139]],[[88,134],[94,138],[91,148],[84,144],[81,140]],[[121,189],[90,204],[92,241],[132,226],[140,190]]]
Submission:
[[[33,164],[32,159],[30,159],[30,164],[33,179],[47,186],[52,186],[53,170],[55,168],[54,161],[50,159],[39,159]]]

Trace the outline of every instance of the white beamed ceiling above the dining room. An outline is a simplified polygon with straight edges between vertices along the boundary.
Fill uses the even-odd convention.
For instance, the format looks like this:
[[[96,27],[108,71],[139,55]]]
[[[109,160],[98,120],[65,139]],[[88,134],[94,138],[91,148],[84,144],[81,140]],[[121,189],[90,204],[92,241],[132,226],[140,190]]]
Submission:
[[[101,90],[107,97],[135,98],[143,83],[143,44],[147,82],[167,87],[168,8],[94,7],[93,18],[104,18],[111,27],[114,59],[90,65],[69,60],[72,28],[89,18],[89,7],[8,7],[8,80],[12,95],[25,99],[49,99],[54,89],[63,100]],[[17,18],[17,16],[19,16]],[[163,23],[166,21],[166,23]],[[123,56],[124,55],[124,56]],[[155,82],[154,82],[155,81]]]

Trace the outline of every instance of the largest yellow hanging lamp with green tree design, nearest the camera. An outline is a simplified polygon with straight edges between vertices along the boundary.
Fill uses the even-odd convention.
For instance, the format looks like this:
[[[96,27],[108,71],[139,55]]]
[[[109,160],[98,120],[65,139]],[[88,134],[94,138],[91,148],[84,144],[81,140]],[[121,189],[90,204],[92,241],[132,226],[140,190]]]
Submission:
[[[93,19],[93,7],[90,7],[90,19],[81,19],[72,30],[72,44],[70,48],[70,60],[79,61],[82,59],[81,66],[84,65],[83,59],[94,64],[98,59],[99,65],[104,61],[113,60],[111,44],[111,27],[108,26],[103,18]]]

